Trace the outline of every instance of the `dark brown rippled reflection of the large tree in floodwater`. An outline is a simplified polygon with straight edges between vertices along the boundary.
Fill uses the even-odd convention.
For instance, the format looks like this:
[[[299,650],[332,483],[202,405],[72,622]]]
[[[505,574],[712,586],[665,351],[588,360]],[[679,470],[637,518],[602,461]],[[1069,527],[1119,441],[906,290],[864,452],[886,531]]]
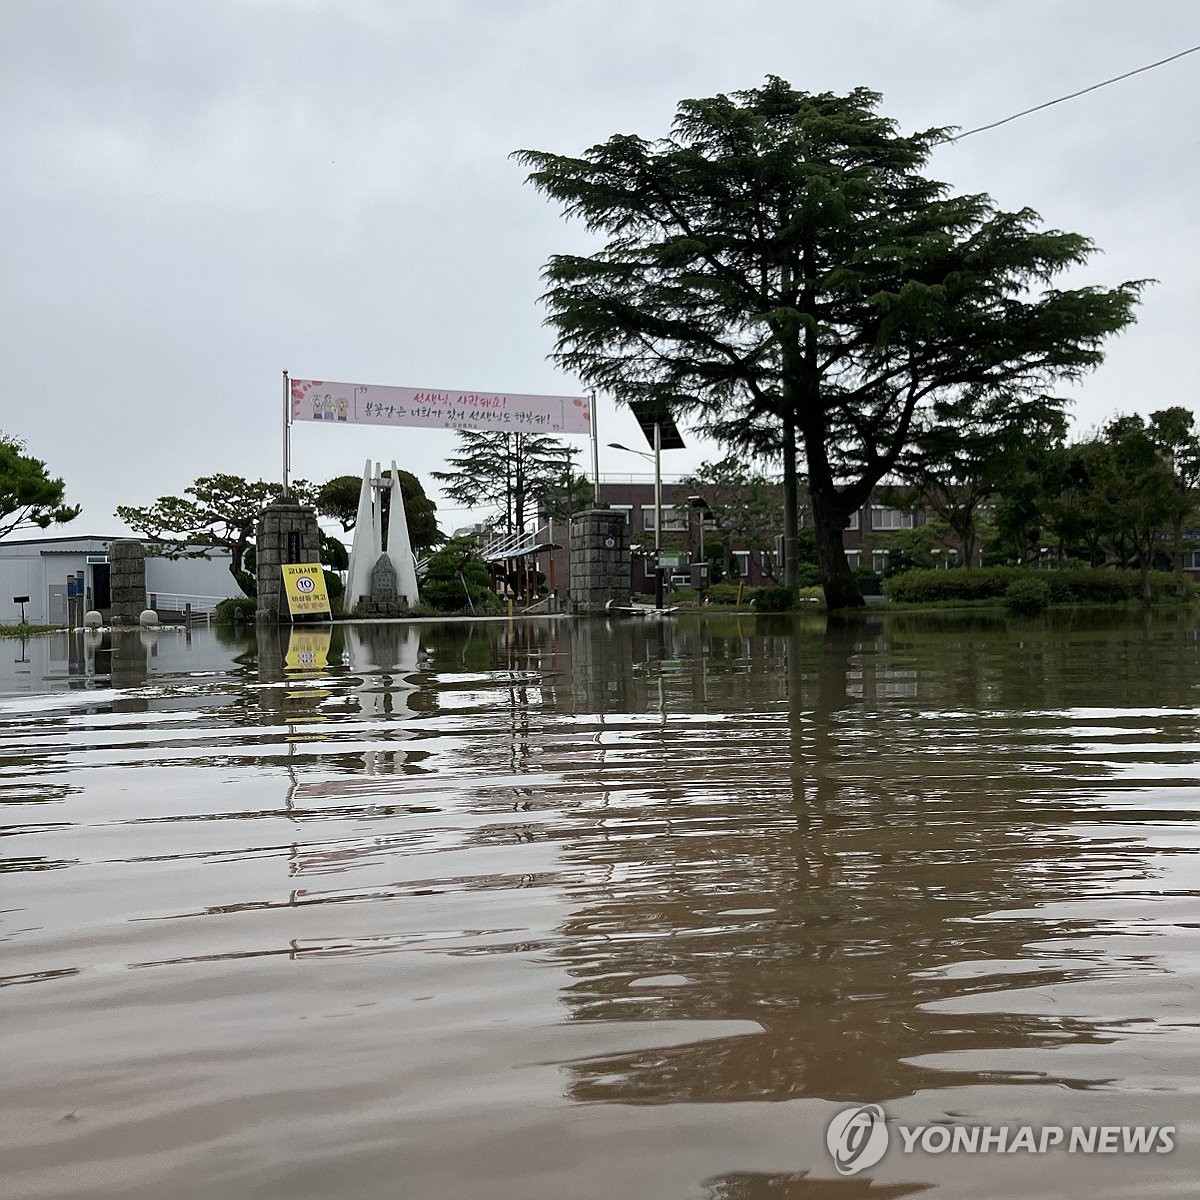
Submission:
[[[1086,934],[1048,913],[1144,866],[1073,832],[1052,798],[1073,796],[1078,776],[1031,761],[1034,743],[1016,715],[1031,686],[1026,664],[1040,653],[1038,670],[1049,670],[1057,638],[1014,655],[1007,632],[980,648],[971,630],[953,668],[942,658],[935,677],[912,653],[914,632],[870,618],[830,623],[821,636],[768,632],[757,647],[766,673],[754,676],[763,719],[732,726],[737,743],[720,740],[716,721],[704,739],[668,722],[601,770],[619,818],[601,817],[565,852],[589,881],[562,929],[571,1016],[737,1021],[761,1032],[706,1037],[696,1025],[696,1040],[644,1045],[654,1039],[643,1028],[640,1049],[572,1063],[571,1096],[884,1100],[985,1078],[950,1058],[924,1064],[932,1055],[1114,1036],[1003,1003],[967,1015],[941,1007],[1088,977],[1098,955],[1064,962],[1031,943]],[[1122,659],[1120,637],[1105,644]],[[647,700],[665,670],[660,654],[642,680]],[[1058,690],[1067,702],[1079,674],[1076,664],[1043,695]],[[594,676],[575,674],[587,701],[600,698]],[[728,700],[720,678],[708,676],[710,706]],[[770,719],[776,686],[786,721]],[[989,708],[1006,706],[1013,712],[995,731],[980,728]],[[1037,754],[1046,752],[1043,743]]]

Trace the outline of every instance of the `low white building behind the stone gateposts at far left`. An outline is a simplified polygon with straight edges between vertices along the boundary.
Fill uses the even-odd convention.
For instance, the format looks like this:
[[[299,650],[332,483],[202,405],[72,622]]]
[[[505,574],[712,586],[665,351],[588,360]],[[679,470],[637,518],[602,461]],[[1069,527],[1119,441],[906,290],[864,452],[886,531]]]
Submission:
[[[108,546],[118,538],[35,538],[29,541],[0,541],[0,624],[20,620],[14,596],[29,596],[25,620],[34,625],[65,625],[67,620],[67,578],[83,581],[86,607],[107,618]],[[132,539],[138,540],[138,539]],[[229,551],[203,547],[203,558],[169,559],[146,547],[146,606],[181,610],[191,604],[206,611],[227,596],[241,595],[229,574]],[[202,547],[196,547],[197,550]]]

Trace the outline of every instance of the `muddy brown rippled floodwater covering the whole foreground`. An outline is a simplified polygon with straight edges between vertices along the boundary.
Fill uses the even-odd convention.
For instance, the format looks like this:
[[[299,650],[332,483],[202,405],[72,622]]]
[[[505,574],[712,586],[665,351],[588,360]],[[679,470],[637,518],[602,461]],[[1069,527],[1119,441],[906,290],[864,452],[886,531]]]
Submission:
[[[1194,619],[287,653],[0,642],[4,1195],[1196,1193]]]

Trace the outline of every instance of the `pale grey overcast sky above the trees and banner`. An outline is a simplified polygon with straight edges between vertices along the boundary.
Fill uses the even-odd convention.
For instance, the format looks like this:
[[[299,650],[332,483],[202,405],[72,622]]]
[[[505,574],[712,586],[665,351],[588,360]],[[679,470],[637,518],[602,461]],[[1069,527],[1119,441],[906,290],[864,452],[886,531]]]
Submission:
[[[104,535],[198,475],[277,479],[284,368],[577,392],[536,298],[546,258],[588,244],[512,150],[659,136],[679,100],[767,74],[966,130],[1196,43],[1196,0],[2,0],[0,428]],[[1073,390],[1084,428],[1195,406],[1198,114],[1194,54],[931,163],[1093,239],[1073,282],[1159,281]],[[642,444],[598,415],[602,443]],[[294,473],[396,458],[437,496],[452,443],[299,425]],[[602,473],[644,469],[601,450]]]

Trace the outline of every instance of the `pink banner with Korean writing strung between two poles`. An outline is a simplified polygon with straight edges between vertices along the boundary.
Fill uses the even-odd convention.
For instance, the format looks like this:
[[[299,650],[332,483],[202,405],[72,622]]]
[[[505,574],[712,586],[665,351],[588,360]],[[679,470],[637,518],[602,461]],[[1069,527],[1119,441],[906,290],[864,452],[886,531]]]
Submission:
[[[293,379],[292,420],[502,433],[590,433],[592,402],[583,396],[517,396]]]

